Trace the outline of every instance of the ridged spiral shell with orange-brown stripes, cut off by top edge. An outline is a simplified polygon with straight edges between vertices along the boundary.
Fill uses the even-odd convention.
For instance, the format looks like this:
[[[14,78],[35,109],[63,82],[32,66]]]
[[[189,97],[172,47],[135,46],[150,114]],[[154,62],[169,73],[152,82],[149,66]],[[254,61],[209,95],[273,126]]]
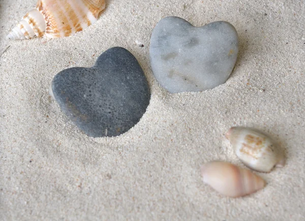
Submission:
[[[40,0],[36,8],[13,28],[7,39],[69,36],[95,23],[105,6],[105,0]]]

